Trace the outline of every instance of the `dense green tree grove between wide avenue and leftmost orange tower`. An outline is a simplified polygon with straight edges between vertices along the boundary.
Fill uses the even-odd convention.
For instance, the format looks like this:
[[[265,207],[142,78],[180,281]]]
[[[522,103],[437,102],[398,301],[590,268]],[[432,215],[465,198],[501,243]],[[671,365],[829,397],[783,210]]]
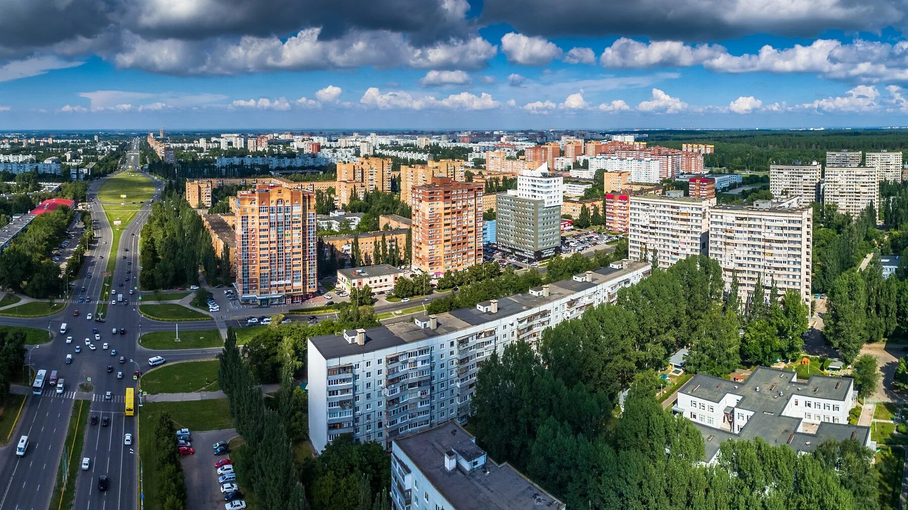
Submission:
[[[143,289],[194,285],[200,266],[211,284],[226,282],[230,275],[231,260],[226,253],[214,252],[211,234],[172,181],[164,188],[163,201],[152,205],[140,248]]]

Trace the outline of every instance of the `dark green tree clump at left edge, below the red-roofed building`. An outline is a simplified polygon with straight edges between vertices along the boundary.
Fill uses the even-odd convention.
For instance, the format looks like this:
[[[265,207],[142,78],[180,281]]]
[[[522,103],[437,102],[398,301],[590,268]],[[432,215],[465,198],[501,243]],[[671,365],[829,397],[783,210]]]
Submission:
[[[74,211],[66,206],[44,212],[0,254],[0,287],[25,292],[30,298],[54,298],[64,291],[60,266],[51,251],[65,238]]]

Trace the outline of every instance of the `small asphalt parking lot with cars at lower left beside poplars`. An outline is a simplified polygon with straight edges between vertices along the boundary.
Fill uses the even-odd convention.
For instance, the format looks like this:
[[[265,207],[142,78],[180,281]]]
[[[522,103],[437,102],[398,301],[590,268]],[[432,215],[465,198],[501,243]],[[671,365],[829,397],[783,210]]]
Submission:
[[[182,456],[183,477],[186,480],[186,507],[193,510],[220,510],[224,507],[221,484],[218,483],[214,463],[230,456],[214,456],[212,445],[218,441],[229,441],[236,436],[235,429],[192,432],[192,447],[195,454]],[[242,487],[241,487],[242,489]]]

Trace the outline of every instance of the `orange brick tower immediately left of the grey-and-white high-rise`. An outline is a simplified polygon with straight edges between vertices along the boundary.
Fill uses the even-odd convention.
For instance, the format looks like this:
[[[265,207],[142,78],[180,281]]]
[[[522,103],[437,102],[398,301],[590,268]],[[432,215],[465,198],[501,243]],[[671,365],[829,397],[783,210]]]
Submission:
[[[413,269],[441,274],[482,262],[482,191],[447,177],[413,187]]]

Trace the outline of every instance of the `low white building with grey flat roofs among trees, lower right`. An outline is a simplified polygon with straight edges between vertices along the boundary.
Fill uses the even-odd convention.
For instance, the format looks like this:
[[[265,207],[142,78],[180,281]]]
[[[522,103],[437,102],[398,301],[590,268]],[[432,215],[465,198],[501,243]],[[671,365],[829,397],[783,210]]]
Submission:
[[[798,453],[829,439],[854,439],[874,449],[870,427],[848,425],[856,401],[852,378],[814,375],[804,381],[793,371],[757,367],[744,381],[696,374],[678,390],[672,412],[694,423],[712,464],[729,439],[760,437]]]

